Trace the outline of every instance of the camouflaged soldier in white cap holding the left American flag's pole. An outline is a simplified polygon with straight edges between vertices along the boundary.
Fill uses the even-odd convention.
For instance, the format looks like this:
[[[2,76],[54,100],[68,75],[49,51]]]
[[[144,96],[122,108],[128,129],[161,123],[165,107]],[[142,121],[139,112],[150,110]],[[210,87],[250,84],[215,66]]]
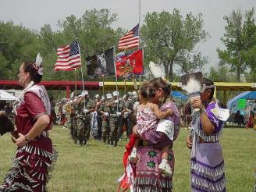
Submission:
[[[94,101],[89,99],[88,91],[83,91],[77,104],[77,136],[80,145],[86,145],[91,131],[91,112],[94,112]]]

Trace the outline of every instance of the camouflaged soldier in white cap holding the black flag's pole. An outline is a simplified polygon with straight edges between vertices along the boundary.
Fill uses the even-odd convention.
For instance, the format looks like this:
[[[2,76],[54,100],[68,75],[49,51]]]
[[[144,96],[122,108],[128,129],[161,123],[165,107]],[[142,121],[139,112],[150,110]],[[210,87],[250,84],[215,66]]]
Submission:
[[[124,112],[121,101],[118,99],[118,95],[119,95],[118,91],[114,91],[113,98],[110,99],[106,104],[110,108],[110,114],[109,114],[110,144],[113,145],[114,147],[117,146],[117,142],[120,137],[119,134],[122,131],[121,123],[122,123],[122,115]]]

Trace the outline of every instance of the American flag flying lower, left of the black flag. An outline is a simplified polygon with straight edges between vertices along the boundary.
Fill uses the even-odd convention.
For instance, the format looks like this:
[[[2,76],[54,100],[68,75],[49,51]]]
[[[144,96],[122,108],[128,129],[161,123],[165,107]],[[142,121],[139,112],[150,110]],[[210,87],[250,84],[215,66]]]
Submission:
[[[80,48],[78,42],[74,41],[65,47],[57,49],[58,59],[55,63],[55,71],[58,70],[74,70],[81,66]]]

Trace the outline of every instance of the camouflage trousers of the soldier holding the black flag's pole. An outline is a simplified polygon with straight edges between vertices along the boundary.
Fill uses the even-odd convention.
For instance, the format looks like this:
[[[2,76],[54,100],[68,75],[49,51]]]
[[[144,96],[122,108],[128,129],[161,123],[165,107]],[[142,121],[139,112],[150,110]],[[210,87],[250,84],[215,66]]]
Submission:
[[[109,118],[109,138],[113,141],[118,141],[121,137],[122,128],[122,117],[110,116]]]

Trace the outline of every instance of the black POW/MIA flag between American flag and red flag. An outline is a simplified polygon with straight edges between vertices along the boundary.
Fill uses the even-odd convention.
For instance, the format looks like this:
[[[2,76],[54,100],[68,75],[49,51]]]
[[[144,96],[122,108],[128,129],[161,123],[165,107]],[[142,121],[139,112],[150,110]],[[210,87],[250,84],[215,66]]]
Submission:
[[[109,48],[98,55],[87,57],[88,76],[115,75],[114,48]]]

